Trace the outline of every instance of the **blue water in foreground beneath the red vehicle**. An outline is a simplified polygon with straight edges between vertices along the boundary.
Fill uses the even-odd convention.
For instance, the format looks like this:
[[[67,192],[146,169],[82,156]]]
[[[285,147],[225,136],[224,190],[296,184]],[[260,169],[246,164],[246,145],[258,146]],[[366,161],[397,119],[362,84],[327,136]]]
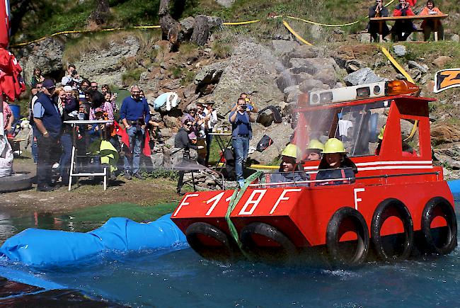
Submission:
[[[222,265],[191,249],[103,253],[71,267],[25,270],[132,307],[457,307],[460,292],[459,249],[357,270]]]

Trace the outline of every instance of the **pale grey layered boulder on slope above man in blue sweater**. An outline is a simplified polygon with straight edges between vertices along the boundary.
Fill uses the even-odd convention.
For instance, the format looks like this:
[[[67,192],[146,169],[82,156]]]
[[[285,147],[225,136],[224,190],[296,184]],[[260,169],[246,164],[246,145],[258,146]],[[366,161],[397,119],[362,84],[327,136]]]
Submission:
[[[121,86],[125,68],[120,66],[120,62],[124,58],[135,57],[139,47],[139,39],[128,35],[123,40],[111,41],[107,48],[84,53],[74,64],[80,76],[99,84]]]

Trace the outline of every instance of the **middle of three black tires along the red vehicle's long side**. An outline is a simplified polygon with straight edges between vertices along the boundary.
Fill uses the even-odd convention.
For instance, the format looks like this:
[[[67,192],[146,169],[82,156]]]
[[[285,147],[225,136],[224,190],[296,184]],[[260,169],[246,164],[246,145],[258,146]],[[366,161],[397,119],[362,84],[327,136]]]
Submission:
[[[381,236],[381,227],[385,220],[393,216],[403,223],[403,234]],[[372,217],[371,235],[374,251],[381,260],[391,262],[408,258],[414,245],[414,225],[406,205],[393,198],[380,203]]]

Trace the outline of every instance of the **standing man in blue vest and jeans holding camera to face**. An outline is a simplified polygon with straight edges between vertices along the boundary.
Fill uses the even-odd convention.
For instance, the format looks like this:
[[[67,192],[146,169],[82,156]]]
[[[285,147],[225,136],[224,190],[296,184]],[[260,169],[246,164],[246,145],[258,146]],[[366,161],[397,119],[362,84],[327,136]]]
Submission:
[[[236,110],[229,115],[231,122],[231,145],[235,152],[235,173],[236,181],[243,187],[243,166],[248,159],[249,140],[252,137],[251,122],[255,122],[255,117],[246,105],[244,98],[238,98]]]

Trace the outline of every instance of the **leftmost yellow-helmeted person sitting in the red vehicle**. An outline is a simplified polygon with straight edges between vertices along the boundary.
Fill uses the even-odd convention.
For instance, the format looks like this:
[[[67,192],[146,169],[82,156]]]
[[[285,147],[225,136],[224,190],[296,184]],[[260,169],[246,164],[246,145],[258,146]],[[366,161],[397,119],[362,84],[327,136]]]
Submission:
[[[278,182],[298,182],[307,179],[306,173],[302,171],[301,164],[297,164],[299,148],[295,144],[287,144],[281,153],[280,169],[270,176],[271,183]],[[303,186],[308,184],[303,183]]]

